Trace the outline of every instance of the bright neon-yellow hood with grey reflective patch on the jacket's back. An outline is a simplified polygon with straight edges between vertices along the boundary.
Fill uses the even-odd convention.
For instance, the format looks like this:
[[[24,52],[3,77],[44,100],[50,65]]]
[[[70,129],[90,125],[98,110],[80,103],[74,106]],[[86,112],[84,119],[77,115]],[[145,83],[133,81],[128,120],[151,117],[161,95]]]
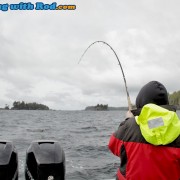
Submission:
[[[145,140],[153,145],[169,144],[180,135],[177,114],[155,104],[143,106],[135,119]]]

